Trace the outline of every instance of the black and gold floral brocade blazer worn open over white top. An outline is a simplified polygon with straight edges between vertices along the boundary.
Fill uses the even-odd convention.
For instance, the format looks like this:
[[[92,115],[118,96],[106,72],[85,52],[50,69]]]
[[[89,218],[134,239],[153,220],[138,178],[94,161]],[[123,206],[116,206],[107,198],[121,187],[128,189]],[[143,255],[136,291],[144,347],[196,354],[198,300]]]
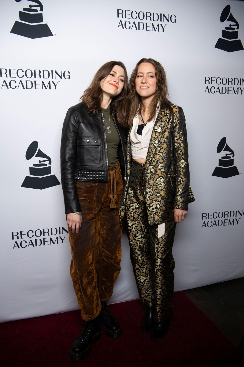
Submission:
[[[174,220],[173,209],[188,210],[194,201],[189,185],[187,131],[183,109],[161,109],[155,121],[144,168],[144,196],[149,224]],[[120,203],[120,221],[126,218],[126,200],[131,172],[131,142],[128,132],[127,178]]]

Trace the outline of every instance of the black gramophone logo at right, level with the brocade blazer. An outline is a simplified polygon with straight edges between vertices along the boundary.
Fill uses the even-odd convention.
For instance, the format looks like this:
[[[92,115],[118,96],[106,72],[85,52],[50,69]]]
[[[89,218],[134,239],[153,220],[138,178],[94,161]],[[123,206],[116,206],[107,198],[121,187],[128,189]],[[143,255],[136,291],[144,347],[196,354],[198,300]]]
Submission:
[[[229,145],[226,144],[225,137],[222,138],[221,141],[218,143],[217,153],[220,152],[228,152],[228,153],[225,153],[225,155],[222,156],[221,159],[219,159],[219,166],[214,168],[212,176],[228,178],[239,175],[240,173],[237,170],[237,167],[234,166],[235,154],[233,150],[229,147]]]

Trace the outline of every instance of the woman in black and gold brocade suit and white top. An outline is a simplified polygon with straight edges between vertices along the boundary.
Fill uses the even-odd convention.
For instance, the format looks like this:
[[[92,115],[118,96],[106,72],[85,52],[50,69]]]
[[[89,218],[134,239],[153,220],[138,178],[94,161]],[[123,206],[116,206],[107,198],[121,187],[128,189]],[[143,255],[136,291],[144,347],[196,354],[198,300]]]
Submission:
[[[168,100],[166,75],[153,59],[141,59],[130,79],[127,180],[120,220],[128,225],[139,294],[147,306],[142,332],[151,341],[167,334],[172,315],[177,222],[194,201],[189,186],[185,117]]]

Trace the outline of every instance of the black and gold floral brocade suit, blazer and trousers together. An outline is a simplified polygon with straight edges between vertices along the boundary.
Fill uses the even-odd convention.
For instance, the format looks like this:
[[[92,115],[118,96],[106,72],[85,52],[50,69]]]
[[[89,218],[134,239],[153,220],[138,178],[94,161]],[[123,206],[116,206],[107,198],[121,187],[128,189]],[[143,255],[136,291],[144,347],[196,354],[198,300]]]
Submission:
[[[171,316],[174,287],[173,209],[194,201],[189,186],[187,131],[181,107],[164,108],[155,121],[145,164],[132,160],[127,138],[127,180],[120,221],[127,218],[131,258],[139,294],[154,306],[157,323]],[[158,239],[158,224],[165,234]]]

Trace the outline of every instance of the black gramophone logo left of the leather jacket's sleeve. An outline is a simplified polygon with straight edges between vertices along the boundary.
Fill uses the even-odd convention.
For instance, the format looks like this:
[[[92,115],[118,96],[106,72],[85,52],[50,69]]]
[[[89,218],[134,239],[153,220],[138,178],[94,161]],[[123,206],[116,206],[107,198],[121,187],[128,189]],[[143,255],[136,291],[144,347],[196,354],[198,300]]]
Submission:
[[[51,158],[38,149],[38,142],[33,141],[26,150],[26,159],[29,160],[34,157],[44,158],[38,160],[30,168],[30,176],[26,176],[21,187],[29,189],[47,189],[48,187],[60,185],[59,180],[55,175],[51,175]],[[44,163],[48,162],[48,163]]]

